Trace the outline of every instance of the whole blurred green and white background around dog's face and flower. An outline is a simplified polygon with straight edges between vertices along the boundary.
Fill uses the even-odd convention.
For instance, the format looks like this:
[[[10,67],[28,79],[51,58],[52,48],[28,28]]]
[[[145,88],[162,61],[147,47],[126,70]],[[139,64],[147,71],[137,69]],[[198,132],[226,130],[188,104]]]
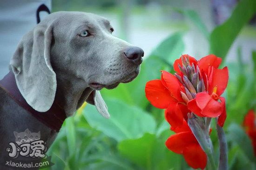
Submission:
[[[173,72],[174,60],[187,53],[196,59],[213,53],[223,59],[221,67],[229,67],[223,95],[229,169],[256,169],[252,139],[243,127],[246,113],[256,108],[256,0],[52,0],[51,11],[107,18],[114,35],[141,47],[146,59],[133,82],[101,91],[110,119],[89,104],[67,118],[48,150],[55,163],[50,169],[189,170],[181,155],[165,147],[173,132],[163,110],[151,106],[144,93],[147,81],[160,78],[160,70]],[[1,68],[7,66],[3,60]],[[218,159],[214,123],[212,128]]]

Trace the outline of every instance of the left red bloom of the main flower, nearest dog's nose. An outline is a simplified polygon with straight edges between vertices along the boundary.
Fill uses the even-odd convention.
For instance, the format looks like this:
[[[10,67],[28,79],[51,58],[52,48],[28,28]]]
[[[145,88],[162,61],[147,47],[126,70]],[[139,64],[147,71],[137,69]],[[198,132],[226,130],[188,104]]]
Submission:
[[[146,97],[152,105],[160,109],[166,109],[168,120],[173,126],[181,126],[183,115],[187,115],[188,109],[182,99],[182,84],[169,72],[162,71],[161,80],[151,80],[145,87]]]

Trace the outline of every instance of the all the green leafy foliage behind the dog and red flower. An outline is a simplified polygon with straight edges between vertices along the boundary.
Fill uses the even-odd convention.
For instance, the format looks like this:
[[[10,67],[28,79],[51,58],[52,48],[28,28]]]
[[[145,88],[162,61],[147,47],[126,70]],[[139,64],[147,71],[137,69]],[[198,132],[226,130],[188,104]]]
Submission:
[[[177,10],[188,17],[209,39],[210,52],[225,59],[230,46],[256,12],[255,0],[241,0],[225,23],[209,33],[195,11]],[[141,65],[138,78],[114,90],[103,89],[111,115],[101,117],[93,105],[67,118],[48,151],[55,163],[53,170],[188,170],[183,158],[165,147],[172,134],[163,112],[145,98],[147,81],[160,78],[160,70],[172,72],[172,63],[185,49],[184,33],[177,32],[162,41]],[[249,138],[241,127],[245,113],[256,105],[256,52],[251,65],[225,63],[229,67],[227,121],[224,126],[229,144],[229,169],[256,168]],[[253,73],[253,74],[252,74]],[[212,131],[213,145],[218,145]],[[217,156],[216,156],[217,158]]]

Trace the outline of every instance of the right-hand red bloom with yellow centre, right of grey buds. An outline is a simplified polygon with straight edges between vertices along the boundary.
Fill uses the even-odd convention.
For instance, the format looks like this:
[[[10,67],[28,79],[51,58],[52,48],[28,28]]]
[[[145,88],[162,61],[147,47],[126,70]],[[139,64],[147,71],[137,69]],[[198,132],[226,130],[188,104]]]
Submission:
[[[208,92],[199,92],[193,100],[188,102],[190,111],[200,117],[216,118],[218,124],[223,126],[226,119],[225,99],[220,97],[228,85],[228,68],[218,69],[221,58],[208,55],[198,61],[198,67],[202,74],[202,83]],[[204,75],[204,76],[203,76]],[[220,99],[221,102],[218,102]]]

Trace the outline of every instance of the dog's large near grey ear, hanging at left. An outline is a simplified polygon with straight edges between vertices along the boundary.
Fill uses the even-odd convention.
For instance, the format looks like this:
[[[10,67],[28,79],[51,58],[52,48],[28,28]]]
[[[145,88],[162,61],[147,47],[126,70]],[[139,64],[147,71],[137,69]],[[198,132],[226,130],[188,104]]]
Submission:
[[[48,111],[56,92],[50,63],[53,26],[38,25],[20,40],[10,62],[20,93],[36,111]]]

